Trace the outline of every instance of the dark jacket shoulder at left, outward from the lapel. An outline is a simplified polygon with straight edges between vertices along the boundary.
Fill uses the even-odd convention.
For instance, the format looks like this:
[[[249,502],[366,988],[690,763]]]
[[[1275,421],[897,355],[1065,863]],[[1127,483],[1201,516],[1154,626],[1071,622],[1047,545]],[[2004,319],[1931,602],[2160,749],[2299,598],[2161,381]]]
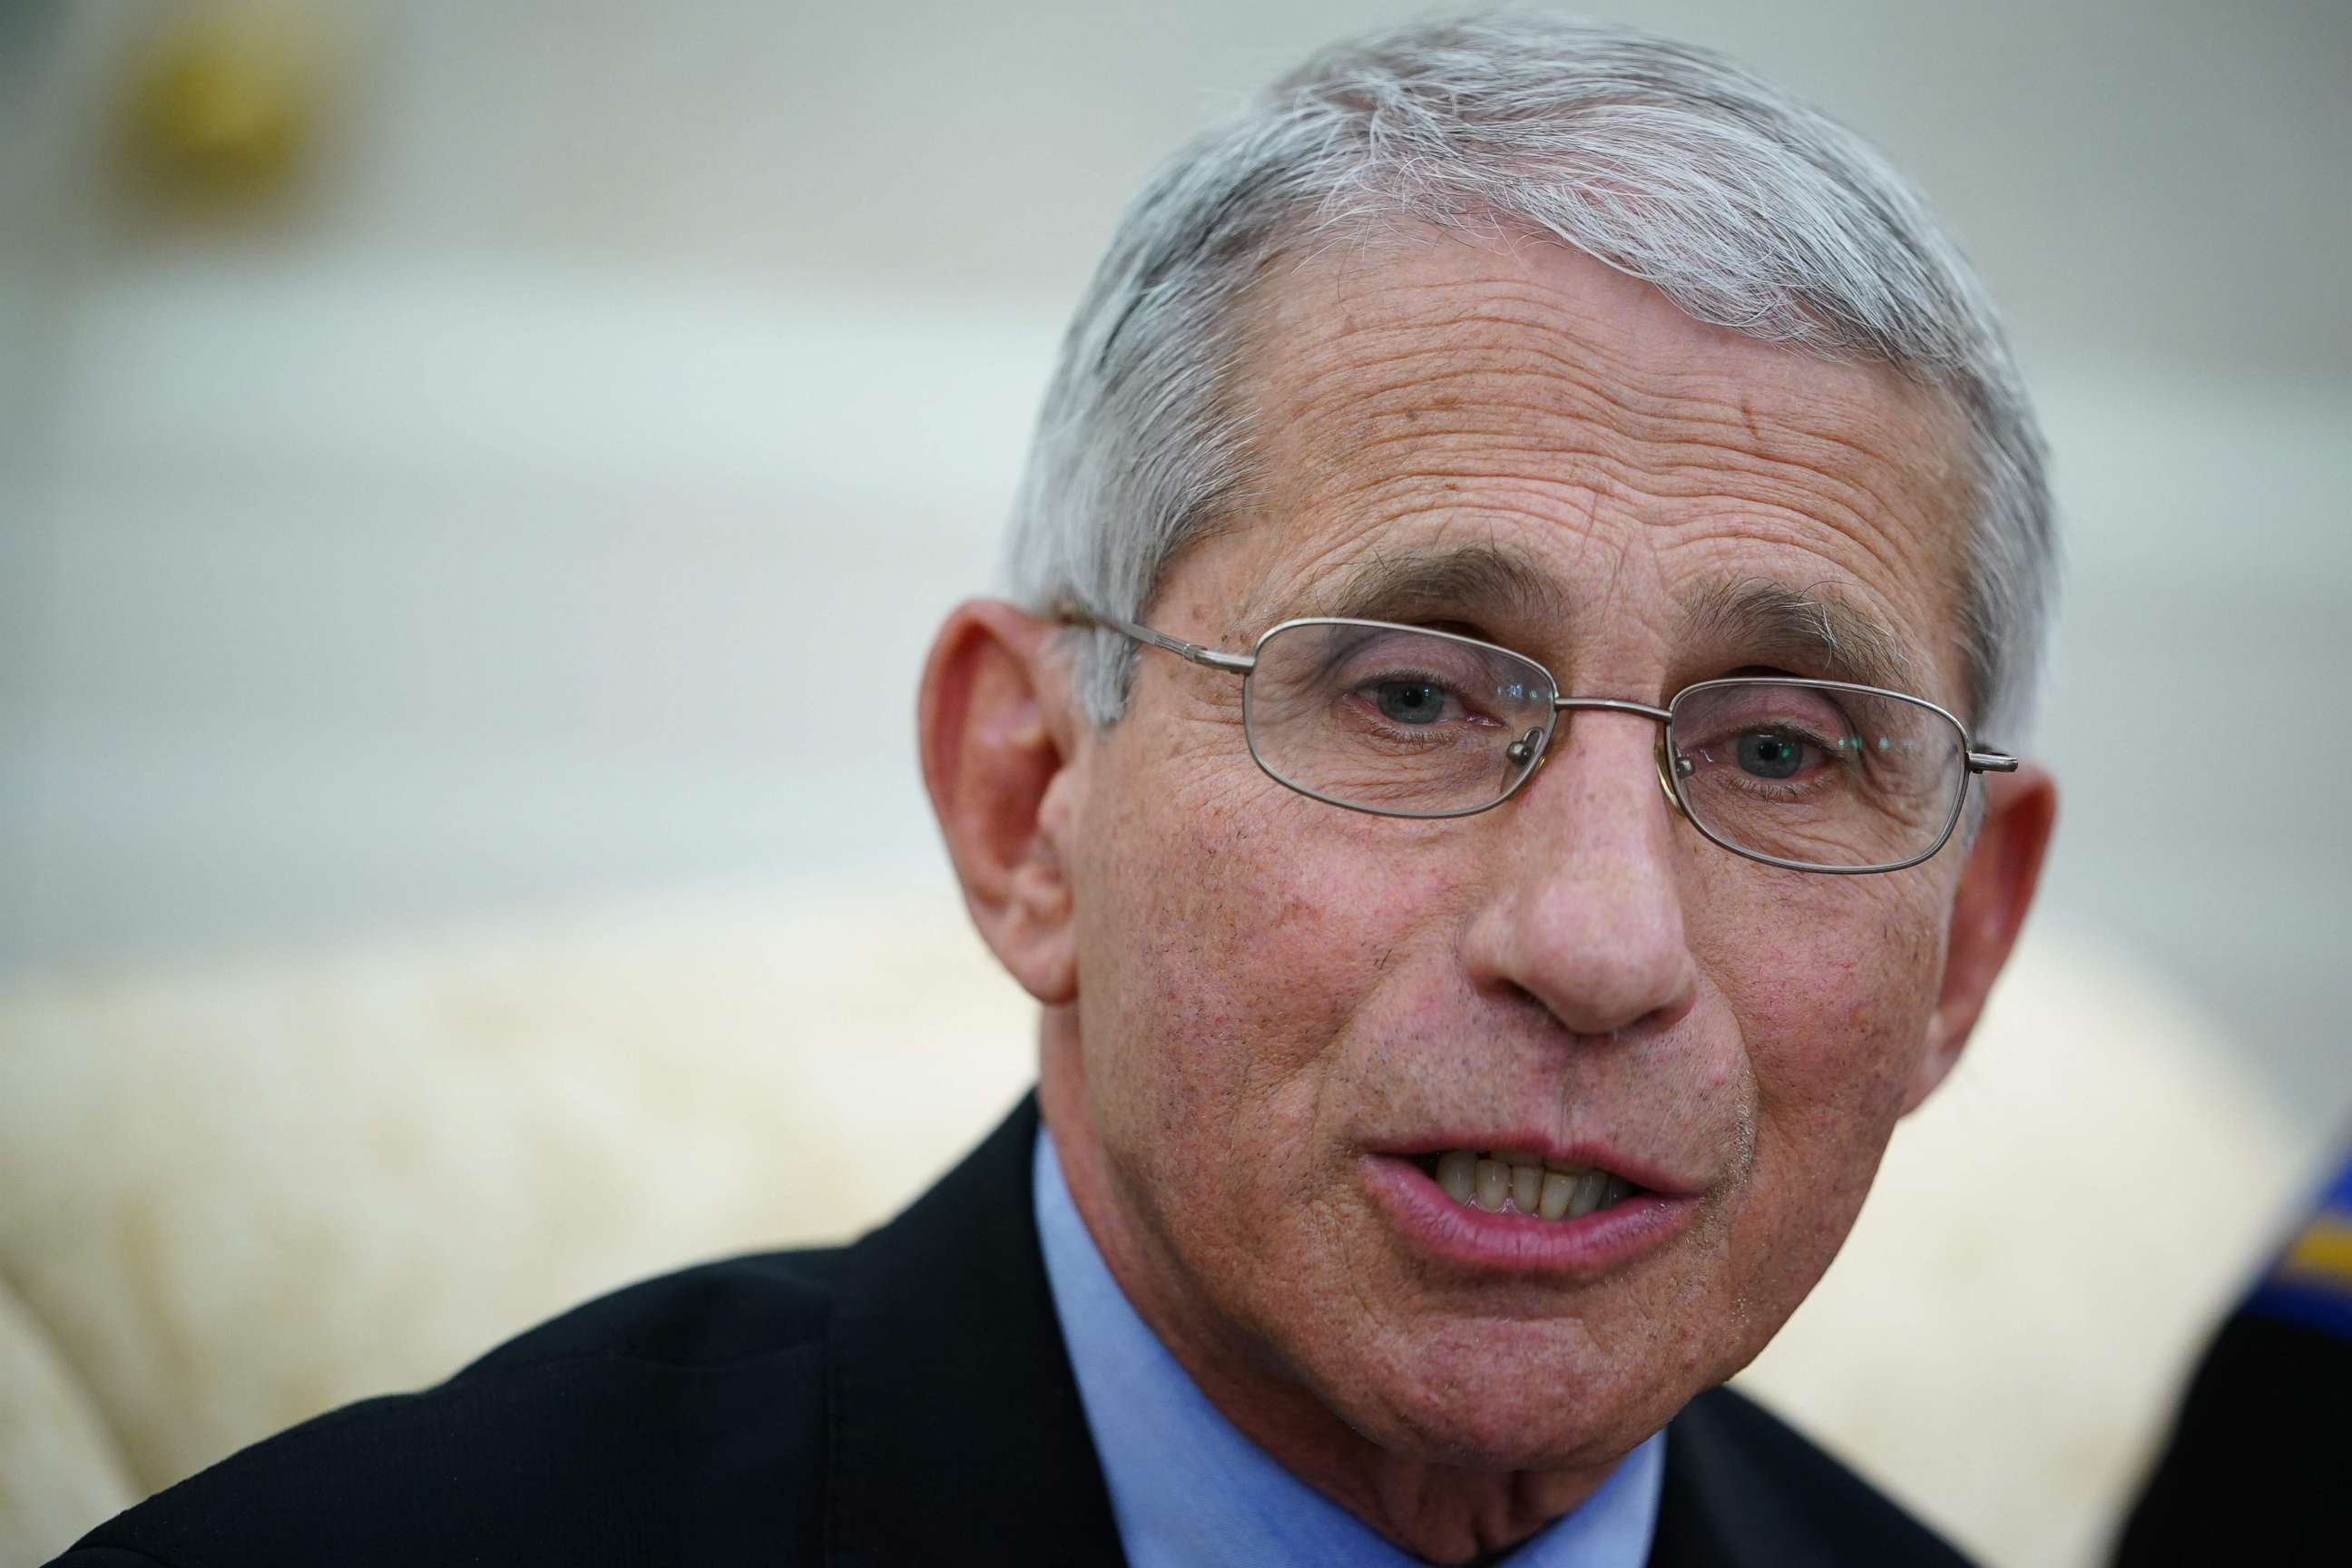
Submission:
[[[600,1563],[779,1542],[814,1559],[844,1258],[762,1253],[614,1291],[442,1385],[254,1443],[56,1561]]]

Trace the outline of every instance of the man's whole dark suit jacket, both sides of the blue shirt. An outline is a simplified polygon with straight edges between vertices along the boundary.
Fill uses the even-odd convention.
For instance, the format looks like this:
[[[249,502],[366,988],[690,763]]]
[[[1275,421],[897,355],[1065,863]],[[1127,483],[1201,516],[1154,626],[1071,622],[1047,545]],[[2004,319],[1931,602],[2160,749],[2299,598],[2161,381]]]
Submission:
[[[1035,1100],[842,1248],[713,1262],[282,1432],[71,1568],[1117,1563],[1047,1295]],[[1653,1568],[1959,1563],[1738,1394],[1675,1418]]]

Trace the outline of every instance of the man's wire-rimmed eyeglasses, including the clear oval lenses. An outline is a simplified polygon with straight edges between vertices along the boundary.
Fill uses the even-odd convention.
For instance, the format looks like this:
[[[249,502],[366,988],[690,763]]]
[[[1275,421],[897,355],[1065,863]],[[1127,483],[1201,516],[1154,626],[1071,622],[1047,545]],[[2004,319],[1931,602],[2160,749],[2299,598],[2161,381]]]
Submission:
[[[1425,625],[1308,616],[1221,654],[1112,616],[1065,621],[1240,675],[1256,764],[1374,816],[1491,811],[1543,766],[1562,715],[1628,712],[1658,724],[1658,785],[1710,842],[1802,872],[1896,872],[1945,846],[1971,776],[2018,766],[1936,703],[1853,682],[1736,675],[1653,708],[1562,696],[1534,658]]]

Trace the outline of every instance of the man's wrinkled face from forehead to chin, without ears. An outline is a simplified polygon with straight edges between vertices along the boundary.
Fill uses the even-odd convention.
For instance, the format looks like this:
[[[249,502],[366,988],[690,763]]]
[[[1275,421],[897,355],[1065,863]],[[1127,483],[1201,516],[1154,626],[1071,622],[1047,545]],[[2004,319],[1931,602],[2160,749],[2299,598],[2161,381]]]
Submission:
[[[1703,614],[1780,585],[1964,710],[1952,425],[1898,376],[1700,327],[1550,244],[1338,256],[1263,303],[1261,484],[1169,569],[1160,630],[1244,651],[1362,611],[1663,703],[1839,675],[1788,616]],[[1331,599],[1425,559],[1456,569]],[[1073,769],[1080,1044],[1047,1079],[1084,1107],[1061,1138],[1101,1154],[1108,1251],[1174,1345],[1385,1448],[1613,1458],[1771,1338],[1940,1074],[1962,846],[1875,877],[1740,860],[1672,816],[1656,726],[1609,712],[1482,816],[1341,811],[1251,764],[1240,696],[1145,654]],[[1545,1222],[1428,1175],[1512,1147],[1646,1192],[1519,1244]]]

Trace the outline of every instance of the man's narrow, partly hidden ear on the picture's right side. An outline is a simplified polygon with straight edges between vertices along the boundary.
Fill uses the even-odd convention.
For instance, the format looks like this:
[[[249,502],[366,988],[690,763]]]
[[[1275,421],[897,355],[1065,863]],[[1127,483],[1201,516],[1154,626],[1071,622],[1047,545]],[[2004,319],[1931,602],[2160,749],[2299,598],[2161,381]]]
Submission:
[[[2049,849],[2058,820],[2058,785],[2037,766],[2016,773],[1985,776],[1985,820],[1969,846],[1952,896],[1952,926],[1945,938],[1943,992],[1926,1027],[1926,1056],[1903,1098],[1903,1114],[1919,1110],[1969,1044],[1969,1032],[1985,1011],[1994,976],[2009,961],[2009,950],[2025,926],[2025,910],[2042,879],[2042,851]]]

